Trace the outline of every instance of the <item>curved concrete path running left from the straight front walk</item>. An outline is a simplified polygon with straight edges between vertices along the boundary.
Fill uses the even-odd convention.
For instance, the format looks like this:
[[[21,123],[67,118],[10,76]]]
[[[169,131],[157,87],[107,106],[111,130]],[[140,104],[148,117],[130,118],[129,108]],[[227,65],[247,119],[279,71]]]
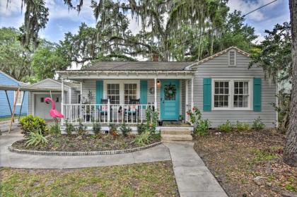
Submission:
[[[43,156],[11,153],[8,146],[22,138],[21,134],[16,132],[0,136],[0,167],[65,169],[170,160],[170,153],[165,145],[157,145],[146,150],[119,155]]]

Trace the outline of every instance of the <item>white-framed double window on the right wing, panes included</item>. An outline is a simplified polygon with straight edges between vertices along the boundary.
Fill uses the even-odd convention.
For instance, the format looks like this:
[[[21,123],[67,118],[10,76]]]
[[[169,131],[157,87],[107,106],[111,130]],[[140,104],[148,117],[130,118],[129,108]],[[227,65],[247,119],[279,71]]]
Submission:
[[[213,109],[250,109],[252,79],[214,79]]]

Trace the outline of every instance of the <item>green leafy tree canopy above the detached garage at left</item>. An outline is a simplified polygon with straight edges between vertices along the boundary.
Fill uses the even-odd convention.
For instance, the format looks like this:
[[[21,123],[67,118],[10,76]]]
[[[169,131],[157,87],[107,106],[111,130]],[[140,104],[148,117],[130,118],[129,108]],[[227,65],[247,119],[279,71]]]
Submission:
[[[65,70],[71,64],[60,44],[38,40],[40,45],[33,52],[21,45],[20,36],[15,28],[0,28],[0,69],[16,80],[36,82],[53,78],[54,71]]]

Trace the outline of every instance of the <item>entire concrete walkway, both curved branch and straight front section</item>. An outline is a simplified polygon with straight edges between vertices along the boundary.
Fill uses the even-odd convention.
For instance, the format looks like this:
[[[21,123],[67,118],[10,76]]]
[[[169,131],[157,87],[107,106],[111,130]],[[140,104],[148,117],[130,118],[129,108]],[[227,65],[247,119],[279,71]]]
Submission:
[[[18,130],[18,129],[16,129]],[[142,162],[173,161],[173,170],[181,197],[227,196],[190,143],[165,143],[147,150],[119,155],[42,156],[11,153],[8,146],[21,140],[19,131],[0,136],[0,167],[30,169],[66,169],[129,165]]]

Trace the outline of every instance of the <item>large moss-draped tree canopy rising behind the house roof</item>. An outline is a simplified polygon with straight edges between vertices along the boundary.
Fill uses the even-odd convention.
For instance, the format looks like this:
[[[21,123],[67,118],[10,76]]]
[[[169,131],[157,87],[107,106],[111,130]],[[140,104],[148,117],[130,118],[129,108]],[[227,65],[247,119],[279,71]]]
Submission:
[[[240,12],[228,14],[227,2],[91,0],[97,25],[91,28],[82,23],[76,35],[66,33],[62,45],[71,61],[83,64],[151,59],[153,55],[158,55],[161,61],[199,60],[231,45],[249,51],[256,38],[255,30],[243,24]],[[64,3],[78,12],[83,8],[83,0]],[[26,47],[33,42],[35,46],[38,31],[47,23],[48,9],[45,0],[23,0],[23,4],[26,13],[31,14],[25,17],[22,43]],[[141,25],[136,35],[129,30],[128,17]]]

